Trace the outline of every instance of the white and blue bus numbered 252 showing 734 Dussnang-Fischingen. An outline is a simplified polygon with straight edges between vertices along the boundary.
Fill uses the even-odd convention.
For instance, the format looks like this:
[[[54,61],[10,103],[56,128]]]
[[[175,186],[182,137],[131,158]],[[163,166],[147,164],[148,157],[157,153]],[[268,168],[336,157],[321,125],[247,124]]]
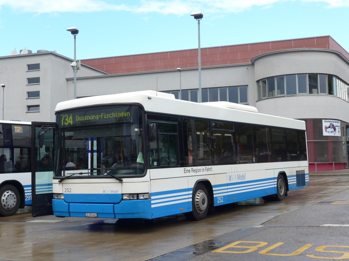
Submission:
[[[52,199],[40,201],[55,216],[202,220],[309,184],[305,122],[252,106],[149,90],[60,102],[55,115],[41,129],[54,133]]]

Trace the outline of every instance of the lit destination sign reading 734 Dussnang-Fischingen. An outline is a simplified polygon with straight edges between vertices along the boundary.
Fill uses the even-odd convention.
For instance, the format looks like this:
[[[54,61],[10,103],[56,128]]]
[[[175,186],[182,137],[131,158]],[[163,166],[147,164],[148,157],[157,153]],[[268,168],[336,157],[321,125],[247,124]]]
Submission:
[[[132,121],[132,106],[85,108],[58,113],[60,127]]]

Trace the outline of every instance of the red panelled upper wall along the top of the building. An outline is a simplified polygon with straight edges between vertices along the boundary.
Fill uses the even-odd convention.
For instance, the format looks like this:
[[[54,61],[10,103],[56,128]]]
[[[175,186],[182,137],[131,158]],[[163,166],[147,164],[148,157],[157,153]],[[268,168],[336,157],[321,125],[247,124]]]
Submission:
[[[329,36],[201,48],[201,66],[250,63],[260,54],[285,49],[323,48],[349,54]],[[111,73],[147,72],[198,67],[198,49],[137,54],[82,60],[82,63]]]

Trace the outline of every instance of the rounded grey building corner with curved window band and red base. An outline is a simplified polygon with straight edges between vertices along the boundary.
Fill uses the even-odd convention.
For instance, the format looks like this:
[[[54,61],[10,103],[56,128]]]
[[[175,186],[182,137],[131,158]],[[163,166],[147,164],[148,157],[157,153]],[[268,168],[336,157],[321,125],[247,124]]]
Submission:
[[[348,59],[334,50],[290,49],[252,63],[259,112],[306,122],[310,171],[346,168]]]

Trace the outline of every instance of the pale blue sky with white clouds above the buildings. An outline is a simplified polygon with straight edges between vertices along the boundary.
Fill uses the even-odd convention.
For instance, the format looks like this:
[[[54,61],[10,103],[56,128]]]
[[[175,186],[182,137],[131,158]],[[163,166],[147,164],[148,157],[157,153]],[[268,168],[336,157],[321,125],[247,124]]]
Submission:
[[[330,35],[349,52],[349,0],[0,0],[0,56],[56,50],[74,59]]]

